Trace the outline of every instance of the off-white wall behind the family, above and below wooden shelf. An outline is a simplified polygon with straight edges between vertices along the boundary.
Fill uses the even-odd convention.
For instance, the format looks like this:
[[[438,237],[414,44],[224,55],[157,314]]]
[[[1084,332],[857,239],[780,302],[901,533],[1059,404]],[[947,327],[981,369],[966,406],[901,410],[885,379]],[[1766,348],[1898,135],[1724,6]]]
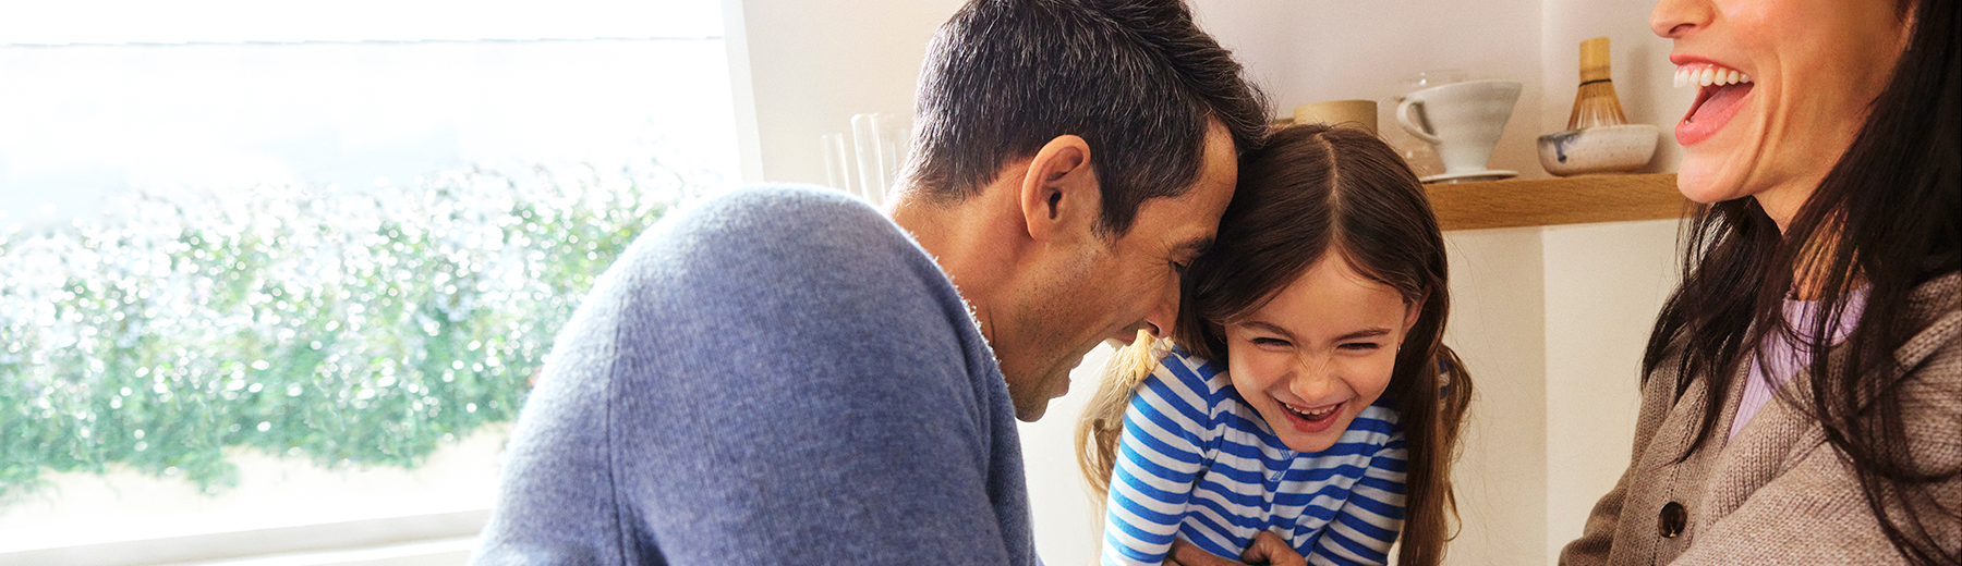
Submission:
[[[816,137],[861,112],[910,108],[926,37],[957,2],[730,2],[746,180],[822,180]],[[1397,78],[1464,69],[1523,82],[1491,168],[1544,178],[1534,139],[1566,127],[1581,39],[1609,35],[1630,121],[1662,129],[1648,170],[1674,170],[1670,129],[1687,108],[1672,88],[1668,41],[1648,33],[1648,0],[1195,2],[1205,29],[1248,67],[1287,116],[1297,104],[1379,102],[1385,139]],[[767,18],[759,18],[767,14]],[[877,29],[877,31],[867,31]],[[832,45],[814,45],[836,41]],[[742,69],[740,65],[748,65]],[[783,72],[781,76],[775,76]],[[785,78],[789,76],[789,78]],[[749,80],[749,86],[744,82]],[[746,98],[751,96],[751,98]],[[1642,343],[1674,286],[1674,221],[1448,233],[1456,309],[1448,343],[1477,382],[1456,468],[1464,533],[1448,564],[1552,564],[1628,460]],[[1071,456],[1073,415],[1105,353],[1073,374],[1050,417],[1022,425],[1036,544],[1050,564],[1095,552]]]

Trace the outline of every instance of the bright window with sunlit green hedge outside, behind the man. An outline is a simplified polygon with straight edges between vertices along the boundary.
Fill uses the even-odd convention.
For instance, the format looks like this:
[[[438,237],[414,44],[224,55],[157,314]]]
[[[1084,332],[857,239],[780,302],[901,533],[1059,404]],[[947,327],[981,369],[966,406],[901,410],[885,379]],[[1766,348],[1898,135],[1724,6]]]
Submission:
[[[736,170],[714,2],[12,2],[0,76],[0,562],[467,533],[579,294]]]

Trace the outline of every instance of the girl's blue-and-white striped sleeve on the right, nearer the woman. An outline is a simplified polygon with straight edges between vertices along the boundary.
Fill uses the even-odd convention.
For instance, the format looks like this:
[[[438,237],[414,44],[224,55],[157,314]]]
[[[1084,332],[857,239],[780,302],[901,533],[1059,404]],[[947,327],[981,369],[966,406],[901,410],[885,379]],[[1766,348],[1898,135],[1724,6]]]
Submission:
[[[1403,531],[1407,468],[1409,450],[1397,431],[1369,456],[1369,468],[1350,490],[1348,501],[1303,558],[1309,564],[1387,564],[1389,546]]]

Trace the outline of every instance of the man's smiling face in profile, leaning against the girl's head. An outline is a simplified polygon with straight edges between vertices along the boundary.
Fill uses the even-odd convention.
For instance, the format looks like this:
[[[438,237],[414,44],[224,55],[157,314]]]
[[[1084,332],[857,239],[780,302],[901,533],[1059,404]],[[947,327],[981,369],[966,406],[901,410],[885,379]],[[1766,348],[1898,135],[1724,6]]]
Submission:
[[[1040,419],[1050,400],[1069,392],[1069,370],[1105,339],[1171,333],[1179,272],[1213,243],[1238,174],[1232,135],[1213,123],[1193,190],[1146,200],[1124,237],[1085,239],[1034,274],[1012,321],[1026,339],[997,345],[1016,419]]]

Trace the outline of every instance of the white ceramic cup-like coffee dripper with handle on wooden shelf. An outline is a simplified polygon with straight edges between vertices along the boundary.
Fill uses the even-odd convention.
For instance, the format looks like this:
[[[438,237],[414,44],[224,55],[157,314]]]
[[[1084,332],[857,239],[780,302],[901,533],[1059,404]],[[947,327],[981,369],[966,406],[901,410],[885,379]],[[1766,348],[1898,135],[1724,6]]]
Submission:
[[[1397,104],[1397,123],[1438,149],[1444,174],[1479,172],[1517,102],[1515,80],[1452,82],[1407,94]]]

